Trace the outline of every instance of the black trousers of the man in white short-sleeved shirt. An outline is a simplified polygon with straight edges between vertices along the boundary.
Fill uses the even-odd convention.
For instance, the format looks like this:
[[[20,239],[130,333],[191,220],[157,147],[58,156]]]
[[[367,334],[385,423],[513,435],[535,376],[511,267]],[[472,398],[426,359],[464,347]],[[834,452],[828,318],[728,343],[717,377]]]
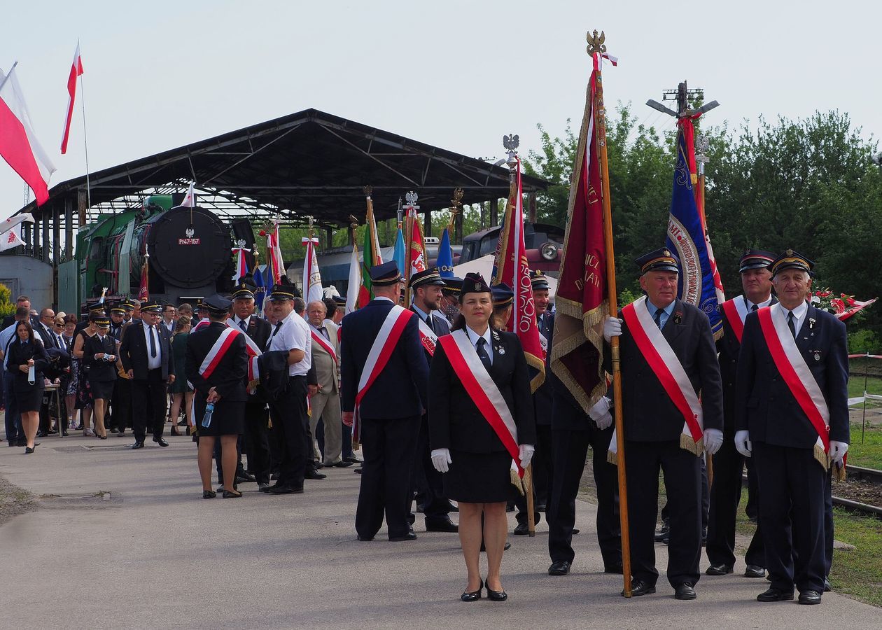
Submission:
[[[273,441],[278,445],[280,457],[279,483],[302,488],[309,446],[304,430],[308,421],[305,376],[288,377],[288,391],[270,403],[270,413],[273,415]]]

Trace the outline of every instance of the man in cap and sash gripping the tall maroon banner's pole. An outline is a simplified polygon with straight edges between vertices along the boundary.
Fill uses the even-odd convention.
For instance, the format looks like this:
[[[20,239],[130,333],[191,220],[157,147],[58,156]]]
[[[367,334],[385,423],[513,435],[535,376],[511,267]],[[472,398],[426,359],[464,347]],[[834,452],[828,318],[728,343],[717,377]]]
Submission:
[[[624,436],[617,436],[617,442],[624,440],[632,489],[632,595],[655,592],[654,530],[662,469],[671,513],[668,581],[676,599],[695,599],[701,558],[699,456],[702,446],[714,454],[722,443],[720,364],[707,316],[676,297],[676,256],[662,248],[636,262],[646,296],[622,309],[624,322],[609,318],[603,327],[607,341],[621,335]]]

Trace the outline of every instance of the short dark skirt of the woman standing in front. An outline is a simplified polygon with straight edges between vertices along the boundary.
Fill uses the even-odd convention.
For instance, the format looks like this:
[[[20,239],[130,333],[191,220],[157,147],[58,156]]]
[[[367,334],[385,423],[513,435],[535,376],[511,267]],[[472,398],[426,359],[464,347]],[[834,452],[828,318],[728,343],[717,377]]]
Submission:
[[[448,499],[464,503],[501,503],[512,496],[512,455],[450,452],[450,469],[444,474]]]

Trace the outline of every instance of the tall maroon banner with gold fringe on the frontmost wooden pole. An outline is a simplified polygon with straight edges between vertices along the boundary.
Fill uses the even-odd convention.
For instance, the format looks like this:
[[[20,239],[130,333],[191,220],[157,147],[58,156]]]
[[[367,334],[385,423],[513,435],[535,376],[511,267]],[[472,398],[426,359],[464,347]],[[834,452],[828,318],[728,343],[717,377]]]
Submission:
[[[586,413],[607,389],[603,378],[602,328],[609,316],[601,164],[594,111],[600,60],[596,55],[593,57],[572,169],[551,345],[551,370]]]

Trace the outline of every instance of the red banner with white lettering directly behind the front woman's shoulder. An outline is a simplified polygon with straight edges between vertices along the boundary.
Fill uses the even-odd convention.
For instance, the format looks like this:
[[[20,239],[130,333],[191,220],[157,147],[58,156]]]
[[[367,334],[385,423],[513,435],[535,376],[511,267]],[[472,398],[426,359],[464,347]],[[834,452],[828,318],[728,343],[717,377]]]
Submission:
[[[515,189],[513,198],[508,200],[505,210],[505,225],[499,235],[497,255],[494,261],[493,283],[505,282],[514,290],[512,317],[506,326],[518,335],[520,345],[527,357],[527,364],[537,370],[530,381],[530,388],[545,382],[545,360],[542,344],[539,341],[539,326],[536,323],[536,307],[533,303],[533,285],[530,281],[530,268],[524,246],[524,207],[520,184],[520,160],[517,161]],[[424,259],[424,258],[423,258]]]

